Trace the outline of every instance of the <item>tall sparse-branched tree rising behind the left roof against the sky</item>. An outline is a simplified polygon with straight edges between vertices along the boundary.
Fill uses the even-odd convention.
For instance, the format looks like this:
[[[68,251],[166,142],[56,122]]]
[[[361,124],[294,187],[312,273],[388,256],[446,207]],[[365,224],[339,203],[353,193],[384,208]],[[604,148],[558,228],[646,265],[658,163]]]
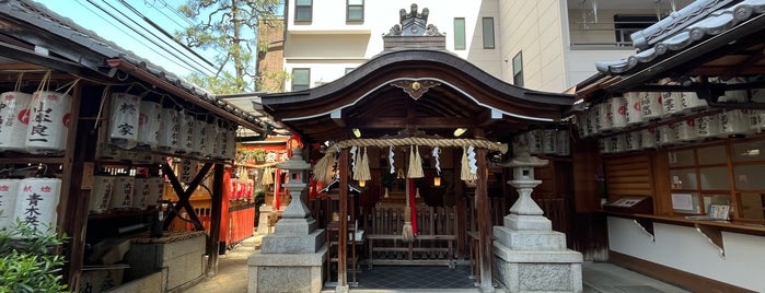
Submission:
[[[193,74],[189,80],[216,94],[245,92],[257,80],[257,26],[273,20],[280,5],[280,0],[187,0],[178,11],[197,23],[176,37],[192,48],[218,51],[215,61],[220,65],[216,77]]]

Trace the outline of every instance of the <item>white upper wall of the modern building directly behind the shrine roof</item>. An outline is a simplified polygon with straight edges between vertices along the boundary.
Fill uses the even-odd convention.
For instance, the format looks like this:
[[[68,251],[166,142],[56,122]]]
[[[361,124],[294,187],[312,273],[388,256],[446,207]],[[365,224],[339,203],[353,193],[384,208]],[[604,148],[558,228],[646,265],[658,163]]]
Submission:
[[[288,1],[288,35],[285,70],[311,68],[311,86],[331,82],[357,68],[383,50],[383,34],[398,24],[398,11],[410,11],[413,1],[366,1],[364,21],[346,23],[346,1],[314,1],[313,21],[293,21],[294,0]],[[475,63],[497,78],[501,77],[499,58],[498,0],[422,0],[416,1],[418,12],[428,8],[428,23],[447,34],[447,49]],[[454,50],[454,19],[465,19],[467,49]],[[494,17],[495,49],[483,48],[482,17]],[[290,90],[290,84],[285,86]]]

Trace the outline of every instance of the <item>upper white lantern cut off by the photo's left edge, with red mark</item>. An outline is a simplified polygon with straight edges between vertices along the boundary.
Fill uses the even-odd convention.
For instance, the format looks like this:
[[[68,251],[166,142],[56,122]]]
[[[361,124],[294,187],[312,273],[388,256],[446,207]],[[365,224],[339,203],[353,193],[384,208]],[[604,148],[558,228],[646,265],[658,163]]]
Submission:
[[[26,152],[24,139],[30,122],[32,94],[0,94],[0,151]]]

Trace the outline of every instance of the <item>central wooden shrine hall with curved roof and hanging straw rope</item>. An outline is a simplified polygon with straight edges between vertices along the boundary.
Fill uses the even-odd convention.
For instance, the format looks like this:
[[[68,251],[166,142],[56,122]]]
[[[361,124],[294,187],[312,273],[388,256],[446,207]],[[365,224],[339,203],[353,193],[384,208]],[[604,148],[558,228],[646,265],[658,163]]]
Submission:
[[[337,157],[333,161],[336,168],[326,173],[337,172],[339,187],[349,186],[351,165],[360,167],[362,156],[369,160],[370,178],[355,180],[364,181],[362,192],[351,195],[348,188],[338,187],[336,196],[325,197],[336,201],[326,203],[336,214],[314,213],[328,231],[366,231],[366,238],[336,238],[336,254],[329,249],[327,258],[338,260],[337,279],[332,281],[340,286],[348,284],[346,261],[357,257],[356,241],[367,242],[370,266],[453,266],[454,255],[466,258],[472,247],[477,253],[479,280],[490,286],[491,226],[501,223],[509,208],[497,204],[499,216],[491,216],[490,201],[501,199],[496,201],[507,204],[512,192],[505,184],[506,171],[491,166],[512,156],[508,143],[513,134],[530,128],[565,127],[561,118],[573,103],[568,94],[508,84],[448,52],[444,35],[432,24],[426,27],[427,21],[416,14],[403,13],[402,23],[384,36],[386,50],[345,77],[305,91],[260,95],[264,110],[310,148],[311,162],[320,165],[314,168],[320,180],[325,179],[318,175],[325,173],[321,169],[324,160]],[[364,151],[351,152],[357,149]],[[467,172],[474,177],[467,185],[461,176],[468,168],[461,162],[463,155],[474,161],[468,163],[474,169]],[[412,162],[420,162],[425,167],[424,174],[412,179],[415,176],[405,173]],[[566,174],[570,174],[561,169],[570,169],[570,159],[547,169],[549,181],[560,183],[550,186],[549,194],[565,194],[556,190],[565,188]],[[440,185],[433,184],[437,177]],[[564,200],[560,202],[556,208],[565,210]],[[437,208],[440,214],[431,210]],[[350,221],[343,221],[346,219]],[[408,225],[421,246],[396,246]],[[376,259],[378,248],[409,253],[398,260]],[[413,257],[419,253],[440,257]],[[356,270],[352,263],[350,267]]]

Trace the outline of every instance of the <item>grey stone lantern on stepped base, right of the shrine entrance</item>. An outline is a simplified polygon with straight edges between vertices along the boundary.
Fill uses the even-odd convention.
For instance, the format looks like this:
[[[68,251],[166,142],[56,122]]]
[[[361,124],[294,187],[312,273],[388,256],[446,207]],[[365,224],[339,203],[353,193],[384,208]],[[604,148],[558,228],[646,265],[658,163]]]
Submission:
[[[534,179],[534,166],[546,164],[547,160],[523,156],[505,165],[513,168],[508,184],[519,199],[505,225],[494,227],[494,259],[495,278],[509,292],[582,292],[582,255],[566,248],[566,235],[553,231],[531,198],[542,183]]]

